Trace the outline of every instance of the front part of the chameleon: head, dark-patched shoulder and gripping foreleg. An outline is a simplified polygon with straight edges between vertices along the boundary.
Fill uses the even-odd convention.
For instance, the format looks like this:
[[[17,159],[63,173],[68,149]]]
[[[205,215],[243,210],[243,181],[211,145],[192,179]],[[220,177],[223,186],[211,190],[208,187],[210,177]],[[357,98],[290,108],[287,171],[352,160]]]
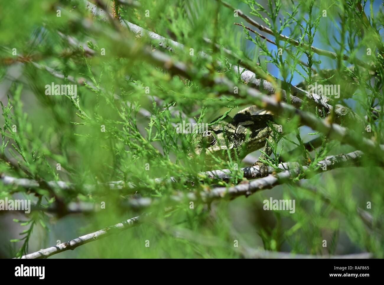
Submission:
[[[235,159],[237,153],[238,157],[243,159],[248,153],[262,147],[264,147],[263,151],[266,155],[270,156],[272,148],[266,139],[271,140],[272,129],[267,123],[271,122],[273,128],[282,132],[281,125],[277,125],[274,118],[275,115],[270,111],[259,109],[257,106],[247,107],[239,111],[233,118],[227,115],[199,134],[197,142],[194,143],[194,150],[189,153],[189,157],[194,159],[204,155],[205,164],[211,166],[215,163],[214,157],[228,160],[230,155],[232,159]],[[229,150],[229,154],[227,150]],[[260,161],[260,159],[266,160],[266,155],[260,155],[253,164],[259,166],[262,177],[268,175],[267,166]]]

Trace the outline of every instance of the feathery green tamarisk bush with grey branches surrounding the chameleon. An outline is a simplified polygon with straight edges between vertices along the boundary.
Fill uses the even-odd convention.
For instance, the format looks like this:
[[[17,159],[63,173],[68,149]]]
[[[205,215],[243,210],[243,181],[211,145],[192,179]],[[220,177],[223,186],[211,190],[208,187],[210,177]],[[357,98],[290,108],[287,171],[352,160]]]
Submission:
[[[2,5],[0,257],[384,257],[383,9]],[[283,127],[268,176],[259,152],[189,158],[195,126],[250,105]]]

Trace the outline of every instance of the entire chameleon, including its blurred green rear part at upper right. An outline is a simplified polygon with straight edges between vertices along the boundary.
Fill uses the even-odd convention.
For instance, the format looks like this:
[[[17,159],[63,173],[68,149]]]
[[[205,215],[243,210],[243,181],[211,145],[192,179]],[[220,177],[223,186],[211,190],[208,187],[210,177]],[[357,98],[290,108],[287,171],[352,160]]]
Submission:
[[[314,74],[312,81],[318,81],[321,84],[340,84],[342,82],[341,94],[345,94],[343,98],[347,98],[356,91],[357,79],[352,76],[353,71],[354,66],[345,68],[341,74],[337,74],[336,70],[323,69],[318,74]],[[308,83],[303,81],[297,87],[308,89]],[[276,117],[275,114],[259,109],[257,106],[247,107],[233,118],[226,116],[197,137],[197,143],[195,143],[194,150],[189,153],[189,157],[193,159],[197,156],[204,156],[205,164],[211,166],[216,162],[214,157],[228,160],[228,156],[230,156],[234,159],[235,153],[237,153],[238,157],[243,159],[248,153],[262,147],[264,147],[263,151],[266,155],[270,156],[272,149],[266,139],[271,140],[272,130],[267,123],[271,121],[273,128],[282,132],[281,125],[277,125],[275,122]],[[229,154],[227,150],[229,150]],[[260,161],[260,159],[266,160],[266,155],[260,155],[253,164],[259,166],[262,177],[268,175],[267,166]]]

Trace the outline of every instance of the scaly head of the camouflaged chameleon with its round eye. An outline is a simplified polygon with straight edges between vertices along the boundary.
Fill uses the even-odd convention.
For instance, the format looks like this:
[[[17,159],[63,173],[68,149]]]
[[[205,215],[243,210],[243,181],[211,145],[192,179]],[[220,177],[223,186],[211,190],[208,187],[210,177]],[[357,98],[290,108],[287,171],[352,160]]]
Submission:
[[[230,123],[230,120],[232,120],[230,117],[221,120],[198,134],[193,142],[193,150],[188,155],[189,158],[200,157],[207,166],[217,162],[214,157],[227,161],[227,150],[229,150],[230,155],[233,155],[233,148],[235,148],[236,128]]]

